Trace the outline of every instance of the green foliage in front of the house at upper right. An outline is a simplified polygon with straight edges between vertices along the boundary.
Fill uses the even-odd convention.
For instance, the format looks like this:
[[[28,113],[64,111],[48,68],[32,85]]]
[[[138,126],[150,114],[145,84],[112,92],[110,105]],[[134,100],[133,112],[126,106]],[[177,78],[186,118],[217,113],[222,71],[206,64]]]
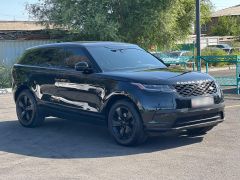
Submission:
[[[214,36],[240,36],[240,16],[219,17],[217,25],[211,29]]]

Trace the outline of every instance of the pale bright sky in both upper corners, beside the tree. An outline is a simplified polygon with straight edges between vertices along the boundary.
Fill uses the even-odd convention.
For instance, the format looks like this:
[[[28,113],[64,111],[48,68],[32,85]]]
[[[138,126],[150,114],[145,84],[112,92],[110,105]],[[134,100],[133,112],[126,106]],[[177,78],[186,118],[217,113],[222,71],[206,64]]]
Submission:
[[[25,9],[27,3],[36,3],[38,0],[2,0],[0,3],[0,20],[4,21],[27,21],[28,12]],[[215,10],[224,9],[240,4],[240,0],[212,0]]]

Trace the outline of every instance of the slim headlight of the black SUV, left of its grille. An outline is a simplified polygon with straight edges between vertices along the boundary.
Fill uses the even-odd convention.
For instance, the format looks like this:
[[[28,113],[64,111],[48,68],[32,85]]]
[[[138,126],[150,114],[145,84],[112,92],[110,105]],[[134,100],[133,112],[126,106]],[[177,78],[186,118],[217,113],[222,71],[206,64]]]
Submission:
[[[152,85],[152,84],[141,84],[141,83],[132,83],[137,86],[139,89],[147,91],[160,91],[160,92],[176,92],[174,87],[169,85]]]

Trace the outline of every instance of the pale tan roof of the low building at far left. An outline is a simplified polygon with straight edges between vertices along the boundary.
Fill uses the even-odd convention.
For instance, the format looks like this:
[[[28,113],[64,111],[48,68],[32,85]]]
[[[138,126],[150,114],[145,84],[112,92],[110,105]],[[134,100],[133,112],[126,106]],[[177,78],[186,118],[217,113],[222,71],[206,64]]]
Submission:
[[[35,21],[0,21],[0,31],[34,31],[45,29]]]

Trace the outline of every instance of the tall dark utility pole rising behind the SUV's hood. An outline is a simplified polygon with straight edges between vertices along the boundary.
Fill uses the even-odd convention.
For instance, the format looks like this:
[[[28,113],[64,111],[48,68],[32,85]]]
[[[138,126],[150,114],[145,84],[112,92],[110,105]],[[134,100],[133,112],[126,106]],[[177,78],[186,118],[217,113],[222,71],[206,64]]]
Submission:
[[[196,48],[197,48],[197,70],[201,72],[201,24],[200,24],[200,0],[196,0]]]

